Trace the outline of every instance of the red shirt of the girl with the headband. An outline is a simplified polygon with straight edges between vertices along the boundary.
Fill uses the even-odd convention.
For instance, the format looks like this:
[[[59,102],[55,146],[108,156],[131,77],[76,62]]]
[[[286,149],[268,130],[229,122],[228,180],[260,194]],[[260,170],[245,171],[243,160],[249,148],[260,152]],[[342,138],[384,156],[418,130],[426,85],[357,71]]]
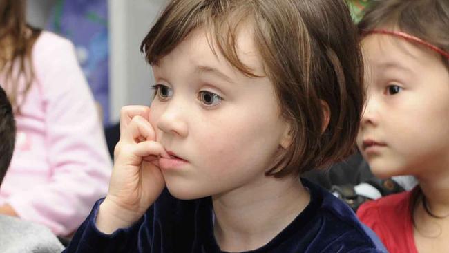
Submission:
[[[359,219],[376,232],[390,253],[418,253],[410,214],[411,193],[404,191],[369,201],[357,210]]]

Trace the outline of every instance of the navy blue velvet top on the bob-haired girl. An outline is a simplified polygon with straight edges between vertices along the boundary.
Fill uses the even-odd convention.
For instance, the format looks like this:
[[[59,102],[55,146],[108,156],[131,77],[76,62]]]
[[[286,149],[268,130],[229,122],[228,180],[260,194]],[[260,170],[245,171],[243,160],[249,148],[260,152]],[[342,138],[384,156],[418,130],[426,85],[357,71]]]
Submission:
[[[332,194],[302,179],[309,205],[282,232],[256,252],[387,252],[374,233]],[[213,236],[211,198],[178,200],[165,189],[133,226],[102,234],[95,227],[99,204],[64,252],[222,252]]]

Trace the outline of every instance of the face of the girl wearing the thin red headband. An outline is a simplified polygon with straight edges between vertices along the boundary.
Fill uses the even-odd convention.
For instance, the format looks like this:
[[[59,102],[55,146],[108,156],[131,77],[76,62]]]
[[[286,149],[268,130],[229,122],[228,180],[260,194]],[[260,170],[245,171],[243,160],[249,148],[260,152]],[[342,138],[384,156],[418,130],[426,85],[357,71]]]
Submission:
[[[376,176],[449,166],[449,71],[441,56],[390,35],[362,41],[367,104],[357,138]]]

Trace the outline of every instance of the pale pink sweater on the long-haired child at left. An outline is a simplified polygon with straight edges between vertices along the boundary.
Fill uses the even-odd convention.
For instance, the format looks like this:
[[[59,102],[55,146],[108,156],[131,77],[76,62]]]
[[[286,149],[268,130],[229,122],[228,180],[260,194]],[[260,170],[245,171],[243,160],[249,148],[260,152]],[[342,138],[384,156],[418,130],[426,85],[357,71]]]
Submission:
[[[9,203],[21,218],[65,235],[106,195],[111,159],[73,44],[42,32],[32,59],[35,82],[16,116],[15,153],[0,205]]]

